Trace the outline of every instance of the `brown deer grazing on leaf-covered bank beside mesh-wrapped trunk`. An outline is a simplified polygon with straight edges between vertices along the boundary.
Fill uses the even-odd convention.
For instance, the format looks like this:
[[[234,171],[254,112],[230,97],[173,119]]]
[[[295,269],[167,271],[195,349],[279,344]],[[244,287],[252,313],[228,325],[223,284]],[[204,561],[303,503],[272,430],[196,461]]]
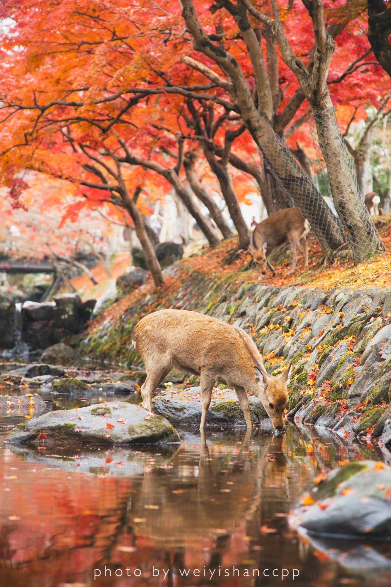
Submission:
[[[290,242],[293,250],[293,261],[289,275],[295,272],[299,254],[299,244],[304,248],[304,266],[308,267],[307,234],[310,226],[297,208],[284,208],[275,214],[271,214],[266,220],[257,224],[251,237],[249,251],[253,255],[256,265],[260,268],[262,275],[266,274],[268,265],[276,275],[273,265],[268,256],[276,247]]]

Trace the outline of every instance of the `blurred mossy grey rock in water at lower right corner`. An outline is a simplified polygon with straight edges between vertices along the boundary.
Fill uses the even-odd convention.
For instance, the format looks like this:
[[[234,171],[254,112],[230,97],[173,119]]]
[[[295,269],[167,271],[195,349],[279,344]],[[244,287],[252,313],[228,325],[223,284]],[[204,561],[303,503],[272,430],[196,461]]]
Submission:
[[[289,523],[314,536],[391,540],[391,467],[359,461],[321,473]]]

